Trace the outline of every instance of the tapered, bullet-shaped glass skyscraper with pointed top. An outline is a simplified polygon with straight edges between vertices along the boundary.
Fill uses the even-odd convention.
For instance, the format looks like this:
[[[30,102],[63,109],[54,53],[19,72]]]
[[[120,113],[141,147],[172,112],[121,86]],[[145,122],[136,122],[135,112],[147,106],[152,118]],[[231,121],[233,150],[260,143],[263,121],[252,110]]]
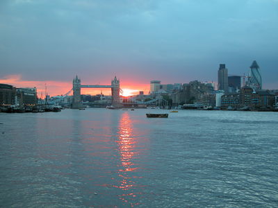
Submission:
[[[261,85],[262,85],[261,71],[260,71],[259,65],[256,63],[255,60],[250,67],[250,72],[249,72],[249,78],[248,78],[248,81],[247,81],[247,85],[249,87],[252,87],[252,89],[254,89],[254,90],[261,89]]]

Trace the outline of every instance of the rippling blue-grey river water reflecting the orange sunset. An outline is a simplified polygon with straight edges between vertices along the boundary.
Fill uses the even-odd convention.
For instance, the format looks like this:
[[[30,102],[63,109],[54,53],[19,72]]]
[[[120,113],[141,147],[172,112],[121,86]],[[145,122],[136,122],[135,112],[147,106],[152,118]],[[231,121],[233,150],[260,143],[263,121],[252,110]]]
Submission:
[[[0,114],[0,207],[278,207],[278,113]]]

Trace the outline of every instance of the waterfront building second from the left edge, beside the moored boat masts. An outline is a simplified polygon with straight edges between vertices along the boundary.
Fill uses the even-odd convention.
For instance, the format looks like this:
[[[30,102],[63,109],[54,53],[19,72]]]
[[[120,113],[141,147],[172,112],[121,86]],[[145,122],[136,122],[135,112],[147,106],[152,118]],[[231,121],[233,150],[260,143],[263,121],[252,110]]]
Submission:
[[[37,101],[37,88],[17,88],[16,89],[16,105],[35,105]]]

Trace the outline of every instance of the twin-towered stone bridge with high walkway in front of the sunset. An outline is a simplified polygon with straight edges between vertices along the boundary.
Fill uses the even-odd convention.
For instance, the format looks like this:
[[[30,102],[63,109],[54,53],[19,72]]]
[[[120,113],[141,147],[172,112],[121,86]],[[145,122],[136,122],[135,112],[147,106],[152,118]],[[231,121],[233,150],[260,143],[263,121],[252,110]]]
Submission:
[[[120,91],[122,90],[120,89],[120,80],[116,76],[111,80],[111,85],[81,85],[81,79],[76,75],[76,78],[72,81],[72,108],[74,109],[82,107],[81,88],[111,88],[112,105],[120,107]]]

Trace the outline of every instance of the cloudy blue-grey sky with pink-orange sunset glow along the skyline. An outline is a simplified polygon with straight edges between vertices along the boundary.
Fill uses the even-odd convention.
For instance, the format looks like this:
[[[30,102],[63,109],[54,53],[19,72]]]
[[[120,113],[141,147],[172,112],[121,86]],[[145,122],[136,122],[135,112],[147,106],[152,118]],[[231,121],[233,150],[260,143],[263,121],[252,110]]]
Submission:
[[[278,89],[277,11],[278,0],[1,0],[0,83],[54,96],[76,75],[117,76],[147,93],[150,80],[217,82],[219,64],[243,75],[256,60],[263,88]]]

